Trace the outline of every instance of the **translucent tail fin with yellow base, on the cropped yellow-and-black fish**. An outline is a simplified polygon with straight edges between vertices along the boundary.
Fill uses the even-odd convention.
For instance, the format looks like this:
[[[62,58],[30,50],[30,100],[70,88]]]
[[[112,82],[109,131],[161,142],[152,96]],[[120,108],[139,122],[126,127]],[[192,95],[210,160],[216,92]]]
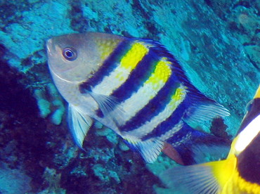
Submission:
[[[235,169],[235,157],[228,160],[208,162],[167,169],[160,179],[176,193],[219,193]]]

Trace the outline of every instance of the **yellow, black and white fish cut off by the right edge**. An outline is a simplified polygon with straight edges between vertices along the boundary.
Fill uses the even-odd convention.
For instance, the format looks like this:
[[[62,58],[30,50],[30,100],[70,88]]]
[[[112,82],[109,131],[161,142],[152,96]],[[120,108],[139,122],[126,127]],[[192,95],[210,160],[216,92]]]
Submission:
[[[160,179],[176,193],[260,193],[260,85],[226,160],[167,169]]]

